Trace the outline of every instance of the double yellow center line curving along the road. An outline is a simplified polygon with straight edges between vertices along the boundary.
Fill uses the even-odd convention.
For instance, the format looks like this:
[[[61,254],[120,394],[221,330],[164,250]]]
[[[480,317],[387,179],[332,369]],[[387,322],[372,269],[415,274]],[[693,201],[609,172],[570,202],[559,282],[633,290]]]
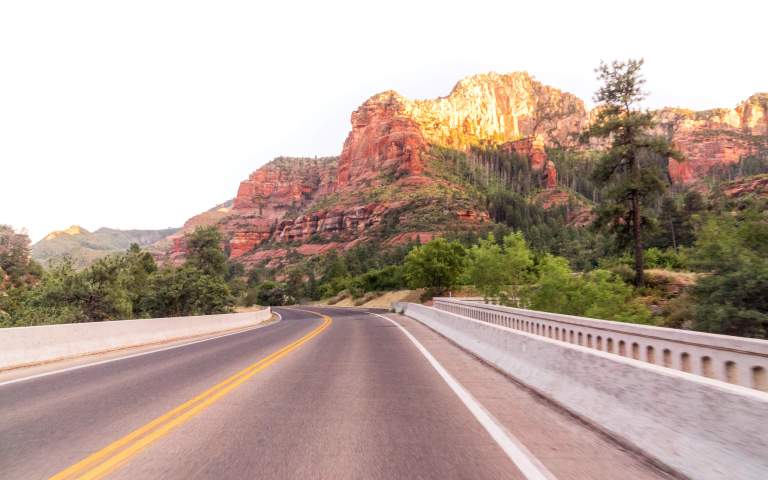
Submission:
[[[331,317],[320,315],[309,310],[301,310],[321,316],[323,323],[293,343],[262,358],[258,362],[232,375],[221,383],[206,390],[188,402],[182,403],[168,413],[157,417],[143,427],[140,427],[123,438],[107,445],[98,452],[79,461],[71,467],[62,470],[51,477],[51,480],[71,479],[97,479],[114,471],[152,443],[167,435],[174,428],[186,423],[192,417],[210,407],[217,400],[237,388],[239,385],[253,377],[260,371],[269,367],[281,358],[296,350],[312,338],[327,329],[331,323]]]

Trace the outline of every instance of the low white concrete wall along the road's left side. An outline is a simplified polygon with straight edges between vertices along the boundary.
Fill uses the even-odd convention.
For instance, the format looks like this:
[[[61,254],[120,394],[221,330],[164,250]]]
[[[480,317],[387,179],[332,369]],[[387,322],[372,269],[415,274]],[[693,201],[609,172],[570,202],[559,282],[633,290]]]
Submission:
[[[60,360],[256,325],[269,308],[248,313],[0,328],[0,369]]]

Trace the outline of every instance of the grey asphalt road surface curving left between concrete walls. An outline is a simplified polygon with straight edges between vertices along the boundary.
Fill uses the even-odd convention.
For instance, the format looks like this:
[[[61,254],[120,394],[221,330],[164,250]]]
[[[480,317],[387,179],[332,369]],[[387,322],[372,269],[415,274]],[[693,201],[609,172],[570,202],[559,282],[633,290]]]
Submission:
[[[0,384],[0,478],[531,478],[396,324],[309,310],[276,309],[282,321],[267,327]],[[488,379],[478,381],[505,382]],[[584,426],[557,415],[553,425],[585,438]],[[642,473],[621,478],[663,478],[599,441],[608,447],[596,456],[614,449],[614,466]],[[547,467],[541,478],[592,478]]]

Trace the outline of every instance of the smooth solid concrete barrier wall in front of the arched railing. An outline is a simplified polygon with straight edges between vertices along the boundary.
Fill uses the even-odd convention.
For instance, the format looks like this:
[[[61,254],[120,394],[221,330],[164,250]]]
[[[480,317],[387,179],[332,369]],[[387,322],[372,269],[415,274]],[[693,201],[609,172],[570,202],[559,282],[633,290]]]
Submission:
[[[682,475],[768,475],[767,393],[423,305],[395,309]]]

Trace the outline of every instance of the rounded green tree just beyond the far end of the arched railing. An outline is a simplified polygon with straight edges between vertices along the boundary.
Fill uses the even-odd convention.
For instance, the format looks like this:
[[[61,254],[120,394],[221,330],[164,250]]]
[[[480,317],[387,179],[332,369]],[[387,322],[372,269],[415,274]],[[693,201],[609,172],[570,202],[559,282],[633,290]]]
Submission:
[[[460,243],[436,238],[408,253],[405,278],[411,288],[426,288],[428,295],[439,295],[456,285],[465,260]]]

